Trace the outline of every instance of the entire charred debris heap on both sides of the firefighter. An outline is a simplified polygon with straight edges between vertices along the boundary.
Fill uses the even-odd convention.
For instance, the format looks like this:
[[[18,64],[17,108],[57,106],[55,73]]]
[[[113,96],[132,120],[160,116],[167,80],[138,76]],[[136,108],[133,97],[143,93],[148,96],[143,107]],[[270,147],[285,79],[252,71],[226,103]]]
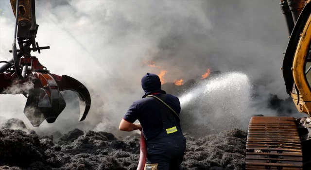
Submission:
[[[139,134],[117,139],[106,132],[74,129],[55,141],[53,136],[31,132],[0,129],[1,170],[136,170],[138,165]],[[244,169],[245,132],[233,129],[201,138],[185,135],[184,170]]]

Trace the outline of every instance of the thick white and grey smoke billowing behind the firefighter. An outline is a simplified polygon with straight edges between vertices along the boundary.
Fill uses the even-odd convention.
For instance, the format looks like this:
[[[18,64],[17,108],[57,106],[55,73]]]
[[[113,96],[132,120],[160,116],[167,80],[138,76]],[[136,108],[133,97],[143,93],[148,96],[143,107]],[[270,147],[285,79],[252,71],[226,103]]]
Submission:
[[[0,8],[5,14],[0,58],[9,60],[15,20],[9,0],[0,1]],[[23,114],[26,98],[1,95],[0,115],[22,119],[37,133],[80,128],[122,136],[117,127],[128,106],[143,95],[141,77],[159,73],[146,60],[167,68],[165,76],[172,80],[188,81],[207,68],[242,72],[256,93],[247,97],[252,110],[244,110],[245,116],[276,115],[267,107],[271,93],[288,98],[280,70],[288,37],[278,0],[36,0],[36,21],[36,41],[51,49],[32,55],[52,73],[81,81],[92,97],[83,122],[78,122],[77,96],[64,92],[67,106],[55,123],[34,128]],[[226,87],[217,90],[218,102],[227,100]]]

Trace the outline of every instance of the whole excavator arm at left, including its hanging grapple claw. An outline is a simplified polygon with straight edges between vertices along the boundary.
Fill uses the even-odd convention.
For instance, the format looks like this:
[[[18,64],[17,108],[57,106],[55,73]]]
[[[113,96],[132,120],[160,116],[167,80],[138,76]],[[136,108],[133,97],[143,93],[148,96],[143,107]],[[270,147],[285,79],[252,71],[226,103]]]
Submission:
[[[35,0],[10,0],[16,17],[14,41],[11,52],[13,58],[0,67],[0,94],[23,94],[27,98],[24,114],[33,126],[44,120],[53,123],[65,109],[66,102],[60,93],[65,90],[76,92],[80,99],[79,121],[86,119],[90,109],[91,97],[85,85],[67,75],[50,73],[31,51],[50,49],[39,47],[35,41],[39,25],[35,19]],[[13,37],[13,36],[12,36]],[[19,49],[17,49],[17,45]],[[32,48],[30,47],[32,46]],[[29,83],[31,88],[12,92],[14,86]]]

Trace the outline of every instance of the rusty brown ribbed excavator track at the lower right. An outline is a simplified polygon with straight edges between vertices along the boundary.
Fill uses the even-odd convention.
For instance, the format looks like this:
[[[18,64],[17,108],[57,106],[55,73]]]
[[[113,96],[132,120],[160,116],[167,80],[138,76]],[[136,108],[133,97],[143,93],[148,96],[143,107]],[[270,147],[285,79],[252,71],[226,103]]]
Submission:
[[[252,117],[246,170],[302,170],[302,146],[293,117]]]

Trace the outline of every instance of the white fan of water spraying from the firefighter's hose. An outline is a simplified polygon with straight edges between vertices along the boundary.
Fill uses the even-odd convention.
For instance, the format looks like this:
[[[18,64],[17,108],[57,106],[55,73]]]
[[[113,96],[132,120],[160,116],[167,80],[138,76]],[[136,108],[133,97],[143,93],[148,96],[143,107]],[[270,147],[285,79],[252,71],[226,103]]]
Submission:
[[[244,127],[248,115],[254,112],[251,91],[249,78],[241,72],[223,73],[200,82],[179,97],[183,129],[204,136]],[[206,130],[195,131],[197,126]]]

